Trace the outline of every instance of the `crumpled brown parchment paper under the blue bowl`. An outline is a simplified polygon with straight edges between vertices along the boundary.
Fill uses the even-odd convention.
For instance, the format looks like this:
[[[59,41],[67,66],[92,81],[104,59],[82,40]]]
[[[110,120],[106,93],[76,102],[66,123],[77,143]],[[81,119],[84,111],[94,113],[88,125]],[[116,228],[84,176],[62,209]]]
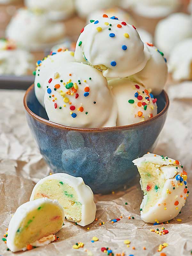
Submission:
[[[192,191],[192,82],[169,85],[166,88],[170,98],[170,108],[166,124],[159,136],[153,153],[178,159],[188,172],[189,191]],[[49,174],[50,170],[42,159],[29,131],[23,107],[24,91],[1,90],[0,107],[0,237],[6,232],[11,215],[17,207],[29,200],[35,183]],[[0,241],[0,255],[107,255],[101,247],[109,247],[125,256],[160,255],[159,244],[168,243],[162,252],[167,256],[191,255],[192,251],[192,197],[177,218],[169,224],[153,226],[140,219],[140,203],[143,194],[139,177],[133,180],[126,191],[110,195],[95,195],[97,221],[86,227],[65,221],[57,233],[60,240],[44,247],[16,254],[7,251],[6,244]],[[125,204],[127,203],[127,204]],[[112,224],[110,220],[122,216]],[[129,219],[133,216],[134,219]],[[105,222],[100,226],[100,222]],[[87,230],[87,227],[90,229]],[[151,232],[151,228],[169,230],[166,235]],[[92,237],[99,241],[92,243]],[[130,247],[124,240],[130,240]],[[83,248],[73,249],[77,242]],[[135,247],[135,250],[132,247]],[[146,250],[143,250],[146,247]]]

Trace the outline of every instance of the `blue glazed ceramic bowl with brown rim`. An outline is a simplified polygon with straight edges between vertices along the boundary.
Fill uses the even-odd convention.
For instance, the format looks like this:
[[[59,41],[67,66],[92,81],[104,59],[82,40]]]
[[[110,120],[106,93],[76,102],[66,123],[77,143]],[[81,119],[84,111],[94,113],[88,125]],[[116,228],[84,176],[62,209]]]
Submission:
[[[169,106],[163,91],[157,97],[158,114],[132,125],[80,129],[48,120],[34,85],[26,91],[24,106],[28,125],[52,172],[80,176],[94,193],[121,189],[137,175],[132,160],[152,151]]]

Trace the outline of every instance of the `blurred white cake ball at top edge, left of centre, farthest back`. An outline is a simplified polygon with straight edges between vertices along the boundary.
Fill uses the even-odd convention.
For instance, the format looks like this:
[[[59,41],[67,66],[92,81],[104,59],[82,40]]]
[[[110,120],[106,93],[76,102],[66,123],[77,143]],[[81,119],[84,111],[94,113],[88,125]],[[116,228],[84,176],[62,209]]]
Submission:
[[[32,11],[45,12],[50,20],[66,20],[75,12],[74,0],[25,0]]]

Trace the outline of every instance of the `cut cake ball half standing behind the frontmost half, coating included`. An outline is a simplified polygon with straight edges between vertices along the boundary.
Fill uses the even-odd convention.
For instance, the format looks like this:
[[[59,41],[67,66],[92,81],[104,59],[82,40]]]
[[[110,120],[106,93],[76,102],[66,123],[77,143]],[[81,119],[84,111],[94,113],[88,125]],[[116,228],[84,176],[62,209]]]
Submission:
[[[95,219],[93,192],[81,177],[76,178],[66,173],[45,177],[35,185],[30,200],[42,197],[57,199],[65,209],[67,220],[78,225],[86,226]]]

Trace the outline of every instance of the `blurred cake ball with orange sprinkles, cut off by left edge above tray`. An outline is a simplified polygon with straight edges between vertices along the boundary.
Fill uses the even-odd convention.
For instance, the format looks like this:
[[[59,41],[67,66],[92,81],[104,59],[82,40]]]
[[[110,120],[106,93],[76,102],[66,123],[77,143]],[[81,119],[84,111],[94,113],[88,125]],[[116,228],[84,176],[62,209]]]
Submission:
[[[7,39],[0,39],[0,75],[31,75],[35,67],[33,56]]]

